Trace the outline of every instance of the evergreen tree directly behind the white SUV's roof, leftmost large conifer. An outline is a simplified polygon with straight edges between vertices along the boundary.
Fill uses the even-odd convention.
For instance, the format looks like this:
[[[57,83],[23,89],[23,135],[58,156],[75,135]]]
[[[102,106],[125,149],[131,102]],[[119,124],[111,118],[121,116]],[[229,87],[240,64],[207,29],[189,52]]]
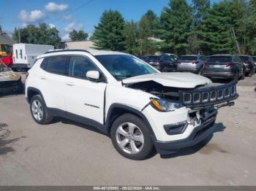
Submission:
[[[105,11],[91,40],[99,50],[124,50],[124,18],[118,11]]]

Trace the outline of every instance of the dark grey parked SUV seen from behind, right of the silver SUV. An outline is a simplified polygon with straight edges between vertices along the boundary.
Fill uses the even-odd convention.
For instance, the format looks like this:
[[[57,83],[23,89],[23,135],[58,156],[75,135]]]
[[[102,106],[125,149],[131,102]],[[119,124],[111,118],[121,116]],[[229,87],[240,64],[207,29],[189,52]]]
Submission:
[[[208,57],[202,75],[208,78],[244,79],[245,67],[238,55],[211,55]]]

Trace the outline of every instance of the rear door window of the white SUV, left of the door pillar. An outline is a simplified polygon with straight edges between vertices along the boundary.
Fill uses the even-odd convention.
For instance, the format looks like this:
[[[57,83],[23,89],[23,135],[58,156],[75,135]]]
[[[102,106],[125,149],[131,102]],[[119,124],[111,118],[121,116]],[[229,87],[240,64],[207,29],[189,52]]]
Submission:
[[[50,56],[42,61],[41,68],[53,74],[67,76],[68,61],[68,55]]]

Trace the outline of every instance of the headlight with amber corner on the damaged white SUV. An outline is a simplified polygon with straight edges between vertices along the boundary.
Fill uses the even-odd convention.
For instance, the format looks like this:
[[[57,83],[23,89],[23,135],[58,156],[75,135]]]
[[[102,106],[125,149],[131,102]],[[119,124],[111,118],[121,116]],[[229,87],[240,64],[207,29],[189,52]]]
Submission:
[[[151,98],[150,100],[154,108],[159,110],[160,112],[175,111],[176,109],[181,108],[183,106],[181,103],[178,102],[170,102],[158,98]]]

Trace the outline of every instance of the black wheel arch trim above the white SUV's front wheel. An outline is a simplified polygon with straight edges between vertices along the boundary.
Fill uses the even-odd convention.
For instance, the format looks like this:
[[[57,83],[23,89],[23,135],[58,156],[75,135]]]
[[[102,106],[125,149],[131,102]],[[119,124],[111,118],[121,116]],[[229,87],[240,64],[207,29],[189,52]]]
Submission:
[[[124,108],[113,108],[110,111],[110,115],[107,117],[107,128],[108,128],[108,134],[110,135],[110,129],[111,126],[113,124],[113,122],[120,117],[123,114],[134,114],[135,116],[139,117],[141,120],[143,120],[143,117],[141,117],[140,114],[138,114],[137,112],[133,112],[130,109],[124,109]],[[144,120],[143,120],[144,121]]]

